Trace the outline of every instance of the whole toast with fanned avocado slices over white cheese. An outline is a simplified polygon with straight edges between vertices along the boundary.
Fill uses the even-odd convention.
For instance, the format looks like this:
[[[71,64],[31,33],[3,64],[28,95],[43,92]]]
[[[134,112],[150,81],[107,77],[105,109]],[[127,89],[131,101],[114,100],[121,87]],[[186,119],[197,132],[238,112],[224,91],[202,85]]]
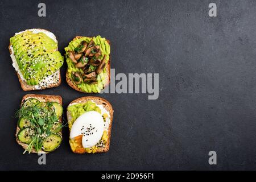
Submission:
[[[18,32],[10,38],[9,51],[24,91],[60,85],[63,56],[52,32],[39,28]]]

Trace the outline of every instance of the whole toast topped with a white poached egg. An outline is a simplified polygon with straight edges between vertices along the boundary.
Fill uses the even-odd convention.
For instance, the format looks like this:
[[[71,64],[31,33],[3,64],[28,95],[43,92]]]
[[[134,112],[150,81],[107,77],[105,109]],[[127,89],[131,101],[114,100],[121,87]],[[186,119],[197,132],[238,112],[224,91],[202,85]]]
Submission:
[[[112,105],[104,98],[81,97],[67,107],[69,144],[77,154],[109,151]]]

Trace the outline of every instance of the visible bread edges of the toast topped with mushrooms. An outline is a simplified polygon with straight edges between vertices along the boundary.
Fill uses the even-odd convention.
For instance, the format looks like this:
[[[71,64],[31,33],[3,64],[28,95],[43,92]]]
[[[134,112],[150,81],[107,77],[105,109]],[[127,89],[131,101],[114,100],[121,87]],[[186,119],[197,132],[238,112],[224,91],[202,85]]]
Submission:
[[[76,40],[76,39],[79,39],[79,38],[82,38],[82,36],[76,36],[75,38],[73,38],[73,40]],[[106,42],[108,42],[109,46],[110,46],[110,41],[109,40],[106,40]],[[105,85],[104,85],[104,88],[106,86],[109,85],[109,82],[110,82],[110,55],[109,55],[109,61],[108,61],[108,64],[106,64],[106,71],[107,71],[107,76],[106,76],[106,80],[105,80]],[[73,83],[73,81],[71,80],[71,78],[68,76],[68,70],[66,72],[66,81],[68,83],[69,86],[71,86],[73,89],[79,91],[79,92],[83,92],[80,88],[77,87],[76,84]],[[103,88],[103,89],[104,89]],[[102,89],[102,90],[103,90]],[[83,92],[84,93],[84,92]],[[94,92],[92,92],[94,93]]]

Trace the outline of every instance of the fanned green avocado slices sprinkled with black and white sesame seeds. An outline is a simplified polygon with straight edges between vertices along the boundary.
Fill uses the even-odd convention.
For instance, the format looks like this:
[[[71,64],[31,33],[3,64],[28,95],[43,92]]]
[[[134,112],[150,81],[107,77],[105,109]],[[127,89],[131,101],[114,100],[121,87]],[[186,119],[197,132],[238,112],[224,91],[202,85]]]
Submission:
[[[43,32],[24,31],[10,38],[20,72],[28,85],[38,85],[63,65],[57,43]],[[57,81],[56,81],[57,82]]]

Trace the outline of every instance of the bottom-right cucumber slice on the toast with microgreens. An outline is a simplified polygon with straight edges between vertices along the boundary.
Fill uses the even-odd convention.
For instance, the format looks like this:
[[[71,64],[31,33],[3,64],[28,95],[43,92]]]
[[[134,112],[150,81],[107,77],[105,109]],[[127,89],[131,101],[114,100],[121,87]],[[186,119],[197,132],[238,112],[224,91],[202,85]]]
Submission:
[[[43,141],[43,150],[46,152],[50,152],[55,150],[57,147],[60,146],[62,138],[60,135],[51,134]]]

